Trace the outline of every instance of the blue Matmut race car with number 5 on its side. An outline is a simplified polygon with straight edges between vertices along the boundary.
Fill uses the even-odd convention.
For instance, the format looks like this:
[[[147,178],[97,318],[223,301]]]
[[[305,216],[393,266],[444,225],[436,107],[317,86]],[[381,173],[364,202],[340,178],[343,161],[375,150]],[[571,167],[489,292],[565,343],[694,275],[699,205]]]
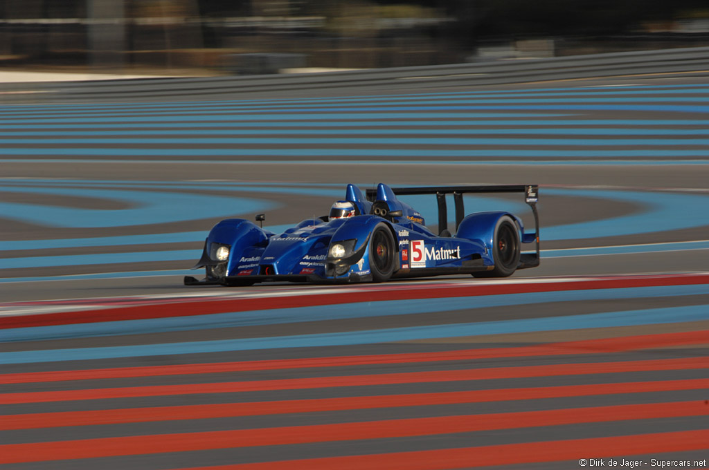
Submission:
[[[274,234],[245,219],[216,224],[193,269],[206,278],[184,278],[185,285],[252,285],[264,281],[382,282],[390,278],[471,274],[506,277],[539,265],[539,217],[536,185],[389,188],[379,184],[367,198],[347,185],[345,200],[330,215],[308,219]],[[464,193],[524,193],[535,231],[508,212],[464,215]],[[401,195],[437,197],[438,234],[421,214],[398,200]],[[456,233],[447,229],[446,195],[455,202]],[[263,221],[264,214],[256,216]],[[522,244],[534,251],[522,253]]]

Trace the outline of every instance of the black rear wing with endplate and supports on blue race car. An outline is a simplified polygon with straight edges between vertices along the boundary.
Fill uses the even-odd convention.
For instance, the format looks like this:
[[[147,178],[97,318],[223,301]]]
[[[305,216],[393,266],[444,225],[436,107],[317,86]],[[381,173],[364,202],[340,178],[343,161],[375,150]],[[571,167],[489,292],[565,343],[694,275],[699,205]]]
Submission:
[[[468,186],[440,186],[428,188],[391,188],[395,195],[419,195],[419,194],[435,194],[438,202],[438,231],[443,231],[448,228],[448,217],[445,196],[453,195],[455,202],[455,228],[458,229],[460,222],[465,217],[465,208],[463,205],[463,195],[466,193],[524,193],[525,202],[532,208],[534,214],[535,231],[533,234],[522,234],[523,243],[531,243],[535,241],[536,256],[530,253],[523,259],[520,259],[523,266],[531,267],[539,265],[540,250],[539,250],[539,214],[537,214],[537,200],[539,199],[539,185],[468,185]],[[367,200],[374,201],[376,198],[376,189],[367,189]],[[529,259],[527,259],[529,258]]]

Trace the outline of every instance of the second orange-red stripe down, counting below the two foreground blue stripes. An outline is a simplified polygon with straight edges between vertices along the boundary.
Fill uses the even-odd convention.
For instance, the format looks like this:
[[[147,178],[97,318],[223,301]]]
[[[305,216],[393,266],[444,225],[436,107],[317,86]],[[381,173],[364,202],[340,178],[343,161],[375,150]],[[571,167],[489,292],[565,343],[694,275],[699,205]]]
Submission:
[[[0,404],[709,368],[708,357],[0,394]]]

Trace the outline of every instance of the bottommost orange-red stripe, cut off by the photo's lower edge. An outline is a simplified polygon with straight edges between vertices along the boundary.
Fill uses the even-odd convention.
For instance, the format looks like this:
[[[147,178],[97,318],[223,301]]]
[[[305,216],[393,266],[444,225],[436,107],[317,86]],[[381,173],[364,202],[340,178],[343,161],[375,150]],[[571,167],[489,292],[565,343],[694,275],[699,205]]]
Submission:
[[[709,430],[657,432],[618,437],[464,447],[462,449],[201,466],[181,470],[452,470],[480,466],[563,462],[565,460],[570,461],[569,469],[580,469],[583,468],[579,465],[581,458],[618,457],[617,460],[620,462],[620,459],[630,459],[629,457],[634,455],[704,450],[707,449],[707,442],[709,442]],[[619,465],[620,463],[618,468],[621,468]],[[607,467],[608,464],[604,466],[604,468]]]

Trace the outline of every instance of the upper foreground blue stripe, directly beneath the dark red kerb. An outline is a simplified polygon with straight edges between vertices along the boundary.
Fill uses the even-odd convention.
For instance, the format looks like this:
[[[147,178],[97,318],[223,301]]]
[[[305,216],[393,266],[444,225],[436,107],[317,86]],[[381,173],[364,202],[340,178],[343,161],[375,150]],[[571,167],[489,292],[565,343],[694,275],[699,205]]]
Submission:
[[[488,309],[497,306],[519,306],[537,303],[581,302],[598,299],[637,299],[652,297],[677,297],[709,293],[708,285],[682,285],[660,287],[630,287],[625,289],[578,290],[564,292],[532,292],[479,297],[440,299],[391,300],[384,302],[357,302],[352,304],[306,306],[289,309],[264,309],[225,314],[179,316],[162,319],[107,321],[55,326],[11,328],[3,333],[4,341],[48,340],[55,338],[86,338],[95,336],[121,336],[140,331],[164,333],[167,331],[192,331],[241,326],[280,325],[302,321],[343,320],[425,314],[462,309]],[[393,294],[395,295],[395,294]]]

